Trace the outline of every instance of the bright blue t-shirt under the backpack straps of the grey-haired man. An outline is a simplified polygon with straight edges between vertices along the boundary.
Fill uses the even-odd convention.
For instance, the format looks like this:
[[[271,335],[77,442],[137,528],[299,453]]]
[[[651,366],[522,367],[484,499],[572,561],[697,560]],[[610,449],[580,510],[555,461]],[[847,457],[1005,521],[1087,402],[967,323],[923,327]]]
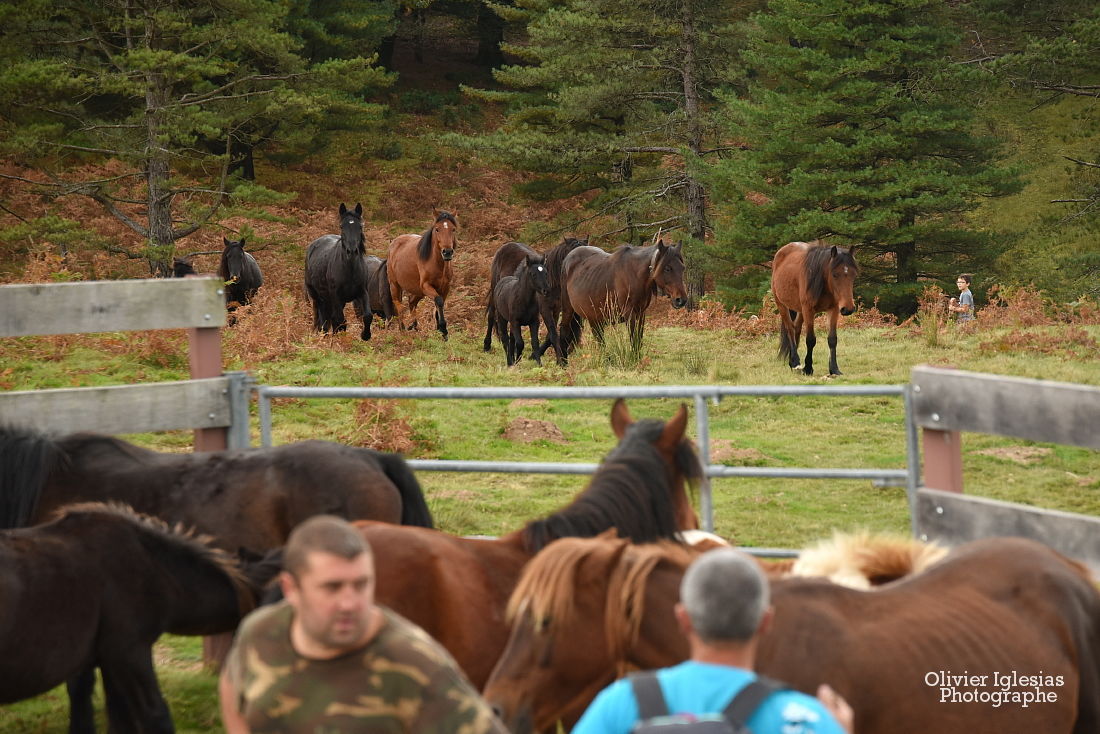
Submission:
[[[670,713],[722,713],[734,695],[756,679],[751,670],[688,660],[657,671]],[[572,734],[629,734],[638,723],[638,702],[627,679],[596,697]],[[754,734],[845,734],[817,699],[799,691],[772,693],[746,722]]]

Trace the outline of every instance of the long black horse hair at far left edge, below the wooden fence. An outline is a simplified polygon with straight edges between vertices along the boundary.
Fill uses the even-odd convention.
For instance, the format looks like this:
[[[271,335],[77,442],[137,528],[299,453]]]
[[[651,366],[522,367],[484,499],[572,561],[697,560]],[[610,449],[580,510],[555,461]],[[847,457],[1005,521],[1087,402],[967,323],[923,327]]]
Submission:
[[[63,457],[61,447],[42,434],[0,426],[0,528],[31,522],[42,487]]]

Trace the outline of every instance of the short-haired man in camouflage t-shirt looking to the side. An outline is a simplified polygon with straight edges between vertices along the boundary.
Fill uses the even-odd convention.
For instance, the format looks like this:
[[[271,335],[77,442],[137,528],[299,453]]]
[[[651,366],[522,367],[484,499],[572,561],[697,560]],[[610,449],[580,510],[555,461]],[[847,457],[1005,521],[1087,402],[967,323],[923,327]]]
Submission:
[[[306,521],[284,566],[286,601],[244,620],[222,671],[229,734],[506,734],[439,643],[374,604],[374,558],[349,523]]]

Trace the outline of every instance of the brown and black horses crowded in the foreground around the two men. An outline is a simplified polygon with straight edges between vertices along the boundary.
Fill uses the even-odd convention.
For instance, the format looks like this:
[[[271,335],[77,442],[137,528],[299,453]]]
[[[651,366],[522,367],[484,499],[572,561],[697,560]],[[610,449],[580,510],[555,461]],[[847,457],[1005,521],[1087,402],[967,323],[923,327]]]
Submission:
[[[510,731],[568,728],[617,676],[688,654],[672,607],[701,552],[683,537],[703,467],[686,407],[635,420],[619,399],[610,425],[617,445],[573,501],[498,538],[435,529],[397,454],[326,441],[176,454],[2,427],[0,703],[65,683],[70,731],[94,732],[99,669],[111,731],[172,732],[153,643],[233,629],[290,528],[330,513],[371,543],[376,599],[439,639]],[[837,568],[807,570],[809,552],[768,563],[759,669],[804,691],[828,682],[860,733],[1100,731],[1100,592],[1084,567],[1022,539],[905,544],[854,544]],[[870,588],[792,576],[834,572]],[[927,676],[964,670],[1043,675],[1056,700],[942,702]]]

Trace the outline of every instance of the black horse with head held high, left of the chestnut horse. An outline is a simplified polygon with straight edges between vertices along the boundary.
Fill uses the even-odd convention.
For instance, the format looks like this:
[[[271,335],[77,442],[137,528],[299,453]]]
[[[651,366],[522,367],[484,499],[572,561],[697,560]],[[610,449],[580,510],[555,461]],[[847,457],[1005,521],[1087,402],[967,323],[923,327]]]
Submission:
[[[363,256],[363,205],[354,210],[340,204],[340,234],[322,234],[306,250],[306,298],[314,304],[314,328],[317,331],[344,331],[344,305],[362,302],[366,293],[366,264]],[[360,338],[371,338],[364,320]]]

